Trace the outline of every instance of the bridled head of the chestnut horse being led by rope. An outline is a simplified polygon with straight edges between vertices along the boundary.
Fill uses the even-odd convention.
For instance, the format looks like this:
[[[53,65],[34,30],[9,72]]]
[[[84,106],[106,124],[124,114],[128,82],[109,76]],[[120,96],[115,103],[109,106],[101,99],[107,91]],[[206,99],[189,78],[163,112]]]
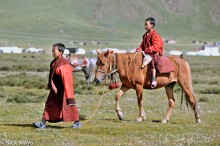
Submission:
[[[101,83],[102,80],[104,80],[108,74],[111,72],[112,64],[114,62],[114,56],[113,52],[107,50],[106,52],[99,52],[96,50],[98,56],[97,56],[97,69],[95,73],[94,81],[96,83]]]

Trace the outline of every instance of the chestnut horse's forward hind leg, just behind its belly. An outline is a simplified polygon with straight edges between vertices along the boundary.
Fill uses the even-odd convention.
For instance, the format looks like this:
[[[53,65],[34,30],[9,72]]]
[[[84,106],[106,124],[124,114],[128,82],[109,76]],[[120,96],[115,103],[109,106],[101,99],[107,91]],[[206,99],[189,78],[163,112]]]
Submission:
[[[166,115],[164,119],[162,120],[162,123],[168,123],[170,120],[170,116],[172,114],[174,105],[175,105],[175,99],[173,96],[173,87],[175,86],[175,82],[170,83],[169,85],[165,86],[168,102],[169,102],[169,107],[167,109]]]

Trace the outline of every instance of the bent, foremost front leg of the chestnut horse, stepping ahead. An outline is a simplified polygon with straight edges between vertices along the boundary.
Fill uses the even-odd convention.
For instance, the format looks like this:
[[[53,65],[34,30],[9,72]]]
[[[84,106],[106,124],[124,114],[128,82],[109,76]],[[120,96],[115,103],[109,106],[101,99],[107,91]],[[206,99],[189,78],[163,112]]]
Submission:
[[[116,101],[115,110],[116,110],[116,113],[118,115],[119,120],[124,120],[124,115],[123,115],[123,112],[122,112],[120,104],[119,104],[120,97],[128,90],[129,90],[129,88],[122,85],[121,89],[118,91],[118,93],[115,96],[115,101]]]

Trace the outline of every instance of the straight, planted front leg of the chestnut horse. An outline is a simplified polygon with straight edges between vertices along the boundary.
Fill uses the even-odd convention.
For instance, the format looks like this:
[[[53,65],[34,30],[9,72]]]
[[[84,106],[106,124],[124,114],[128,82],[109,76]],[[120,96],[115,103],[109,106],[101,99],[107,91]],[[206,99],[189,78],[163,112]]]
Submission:
[[[137,122],[142,122],[146,119],[146,114],[144,112],[143,108],[143,86],[142,85],[136,85],[136,94],[137,94],[137,100],[138,100],[138,106],[139,106],[139,117],[137,118]]]

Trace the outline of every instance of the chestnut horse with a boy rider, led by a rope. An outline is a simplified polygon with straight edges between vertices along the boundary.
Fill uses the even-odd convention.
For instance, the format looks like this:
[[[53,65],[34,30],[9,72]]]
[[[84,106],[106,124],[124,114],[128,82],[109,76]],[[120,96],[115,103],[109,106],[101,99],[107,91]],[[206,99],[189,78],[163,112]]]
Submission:
[[[151,88],[151,75],[150,69],[145,67],[141,69],[142,65],[142,53],[112,53],[110,51],[99,52],[97,50],[97,70],[95,74],[95,82],[101,83],[102,80],[117,72],[121,80],[121,88],[115,96],[116,100],[116,112],[118,118],[123,120],[123,112],[119,105],[120,97],[129,89],[136,90],[138,106],[139,106],[139,117],[137,122],[141,122],[146,119],[144,108],[143,108],[143,89]],[[200,123],[200,113],[198,109],[198,103],[193,93],[192,78],[189,64],[178,56],[169,56],[170,61],[173,63],[175,71],[164,74],[157,74],[157,86],[153,89],[164,87],[168,97],[168,110],[165,114],[162,123],[169,122],[172,110],[174,108],[175,99],[173,95],[173,88],[176,83],[180,85],[182,90],[185,92],[185,97],[190,103],[195,113],[196,123]]]

